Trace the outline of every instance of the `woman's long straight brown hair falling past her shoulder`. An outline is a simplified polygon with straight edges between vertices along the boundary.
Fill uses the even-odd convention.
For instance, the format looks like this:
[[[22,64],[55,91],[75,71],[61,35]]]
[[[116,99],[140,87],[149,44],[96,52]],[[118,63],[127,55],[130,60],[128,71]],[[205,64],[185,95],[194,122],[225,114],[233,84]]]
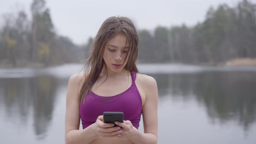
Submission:
[[[124,61],[124,69],[127,69],[129,72],[138,72],[135,62],[138,58],[139,40],[134,24],[127,17],[109,17],[104,21],[95,36],[92,43],[91,54],[84,65],[85,80],[79,92],[79,100],[83,100],[83,103],[85,102],[85,97],[90,92],[92,85],[102,72],[103,65],[105,64],[103,60],[105,45],[109,39],[112,39],[118,33],[125,34],[129,44],[128,55],[126,55]]]

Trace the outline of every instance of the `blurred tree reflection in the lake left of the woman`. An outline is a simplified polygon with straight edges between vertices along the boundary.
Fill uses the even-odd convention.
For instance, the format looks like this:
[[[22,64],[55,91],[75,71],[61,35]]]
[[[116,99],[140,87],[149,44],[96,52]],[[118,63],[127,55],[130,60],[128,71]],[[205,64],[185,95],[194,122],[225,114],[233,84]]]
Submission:
[[[17,127],[25,126],[29,113],[33,113],[33,128],[37,138],[44,138],[56,99],[57,81],[53,77],[39,76],[26,79],[1,79],[0,91],[6,118],[20,121]],[[32,109],[32,111],[31,111]]]

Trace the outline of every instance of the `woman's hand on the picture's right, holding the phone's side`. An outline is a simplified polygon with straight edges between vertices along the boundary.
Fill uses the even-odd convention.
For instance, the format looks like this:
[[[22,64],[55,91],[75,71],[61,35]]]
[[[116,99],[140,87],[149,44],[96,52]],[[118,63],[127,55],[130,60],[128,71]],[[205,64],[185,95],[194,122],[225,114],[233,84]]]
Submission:
[[[124,123],[116,121],[115,124],[122,127],[121,133],[117,137],[130,139],[133,136],[135,127],[131,124],[131,121],[124,121]]]

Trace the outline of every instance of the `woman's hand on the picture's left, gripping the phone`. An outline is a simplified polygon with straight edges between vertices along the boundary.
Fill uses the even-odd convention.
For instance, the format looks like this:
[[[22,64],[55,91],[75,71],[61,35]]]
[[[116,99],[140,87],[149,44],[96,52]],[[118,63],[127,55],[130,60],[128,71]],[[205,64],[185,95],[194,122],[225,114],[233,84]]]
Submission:
[[[101,137],[117,137],[121,133],[120,127],[114,127],[114,124],[104,123],[103,115],[98,116],[94,129]]]

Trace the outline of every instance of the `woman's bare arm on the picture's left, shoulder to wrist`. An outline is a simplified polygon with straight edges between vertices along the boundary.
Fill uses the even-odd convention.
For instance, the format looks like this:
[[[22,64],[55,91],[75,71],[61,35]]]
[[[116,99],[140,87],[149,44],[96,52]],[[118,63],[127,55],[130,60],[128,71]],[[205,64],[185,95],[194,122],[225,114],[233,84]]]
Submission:
[[[69,79],[66,95],[65,143],[89,144],[97,137],[94,124],[79,130],[80,114],[78,93],[82,82],[82,74],[72,75]]]

